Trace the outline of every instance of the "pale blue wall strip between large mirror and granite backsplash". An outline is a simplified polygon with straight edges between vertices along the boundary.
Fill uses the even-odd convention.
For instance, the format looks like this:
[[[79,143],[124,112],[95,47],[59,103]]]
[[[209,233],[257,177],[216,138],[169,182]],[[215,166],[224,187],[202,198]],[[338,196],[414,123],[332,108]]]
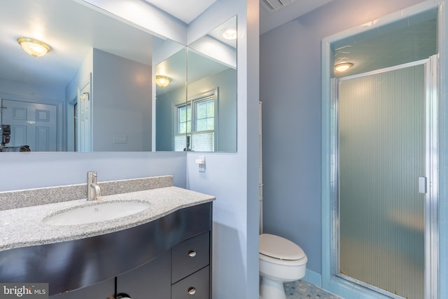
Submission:
[[[0,165],[0,191],[85,183],[90,170],[98,181],[172,174],[186,187],[185,153],[1,153]]]

